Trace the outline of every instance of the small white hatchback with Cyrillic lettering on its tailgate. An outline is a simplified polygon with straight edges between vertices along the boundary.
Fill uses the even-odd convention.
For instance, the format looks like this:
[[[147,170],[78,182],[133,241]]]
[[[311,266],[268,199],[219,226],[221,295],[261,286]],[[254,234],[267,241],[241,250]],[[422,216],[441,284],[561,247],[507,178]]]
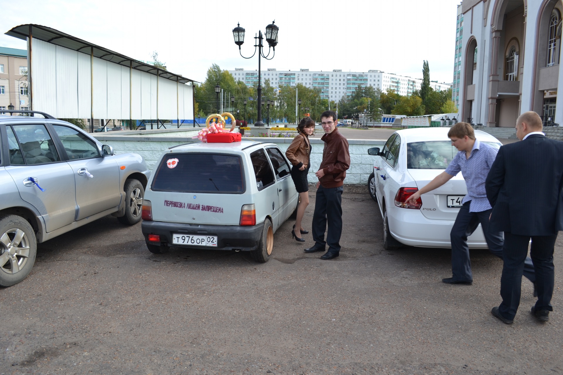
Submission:
[[[142,206],[149,251],[249,251],[266,262],[297,210],[291,164],[274,143],[190,143],[160,157]]]

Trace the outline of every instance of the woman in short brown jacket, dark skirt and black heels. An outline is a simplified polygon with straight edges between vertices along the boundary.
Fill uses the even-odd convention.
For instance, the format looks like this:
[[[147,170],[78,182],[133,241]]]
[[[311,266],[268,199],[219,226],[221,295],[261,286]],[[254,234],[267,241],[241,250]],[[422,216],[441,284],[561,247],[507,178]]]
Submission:
[[[305,214],[306,207],[309,205],[309,182],[307,180],[307,174],[309,173],[309,166],[311,164],[311,143],[309,142],[309,135],[315,131],[315,121],[311,120],[310,117],[301,119],[299,125],[297,125],[297,131],[296,137],[293,138],[293,142],[291,142],[287,151],[285,151],[285,156],[287,156],[291,164],[293,164],[291,178],[293,179],[293,183],[295,184],[295,188],[301,200],[297,207],[297,219],[295,220],[291,234],[296,241],[305,242],[303,238],[295,234],[295,228],[300,229],[301,234],[309,233],[309,231],[305,231],[305,229],[301,227],[301,220]]]

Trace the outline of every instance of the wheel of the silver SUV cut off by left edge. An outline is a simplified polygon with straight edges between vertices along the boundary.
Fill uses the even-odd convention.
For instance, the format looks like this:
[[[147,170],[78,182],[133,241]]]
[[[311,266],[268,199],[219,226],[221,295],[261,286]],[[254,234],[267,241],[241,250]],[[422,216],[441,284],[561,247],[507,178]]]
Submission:
[[[0,286],[9,287],[25,279],[36,254],[37,239],[27,220],[16,215],[0,216]]]

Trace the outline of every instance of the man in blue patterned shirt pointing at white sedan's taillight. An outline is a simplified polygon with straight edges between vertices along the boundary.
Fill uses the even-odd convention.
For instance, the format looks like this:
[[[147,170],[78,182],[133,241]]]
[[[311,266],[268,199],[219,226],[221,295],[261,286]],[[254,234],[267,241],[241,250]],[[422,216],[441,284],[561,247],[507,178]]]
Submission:
[[[446,284],[473,284],[471,273],[471,261],[469,258],[469,247],[467,237],[471,236],[481,223],[485,241],[489,250],[502,259],[502,246],[504,236],[502,232],[490,230],[489,216],[492,207],[489,204],[485,191],[485,179],[497,157],[497,148],[475,139],[475,132],[470,124],[457,123],[448,132],[448,138],[452,140],[453,146],[458,153],[448,165],[448,168],[436,176],[425,187],[414,193],[407,201],[415,202],[422,194],[430,192],[446,182],[460,171],[467,186],[467,195],[463,197],[462,207],[459,209],[457,218],[450,233],[452,240],[452,275],[453,277],[442,279]],[[535,296],[535,272],[530,257],[526,258],[524,275],[534,284]]]

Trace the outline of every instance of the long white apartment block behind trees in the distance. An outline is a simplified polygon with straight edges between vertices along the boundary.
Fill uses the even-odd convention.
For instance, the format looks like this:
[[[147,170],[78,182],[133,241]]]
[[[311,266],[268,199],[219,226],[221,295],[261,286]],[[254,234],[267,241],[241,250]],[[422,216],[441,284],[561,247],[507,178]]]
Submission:
[[[244,82],[248,87],[258,84],[257,70],[244,70],[236,68],[229,70],[236,81]],[[270,80],[272,87],[283,85],[294,86],[298,83],[310,88],[320,89],[321,98],[339,101],[342,97],[350,97],[358,87],[379,88],[385,92],[391,88],[397,94],[410,96],[414,90],[420,89],[422,79],[410,78],[394,73],[385,73],[381,70],[365,71],[311,71],[309,69],[300,70],[277,70],[268,68],[261,72],[262,84]],[[436,91],[447,90],[450,84],[431,82],[431,87]]]

